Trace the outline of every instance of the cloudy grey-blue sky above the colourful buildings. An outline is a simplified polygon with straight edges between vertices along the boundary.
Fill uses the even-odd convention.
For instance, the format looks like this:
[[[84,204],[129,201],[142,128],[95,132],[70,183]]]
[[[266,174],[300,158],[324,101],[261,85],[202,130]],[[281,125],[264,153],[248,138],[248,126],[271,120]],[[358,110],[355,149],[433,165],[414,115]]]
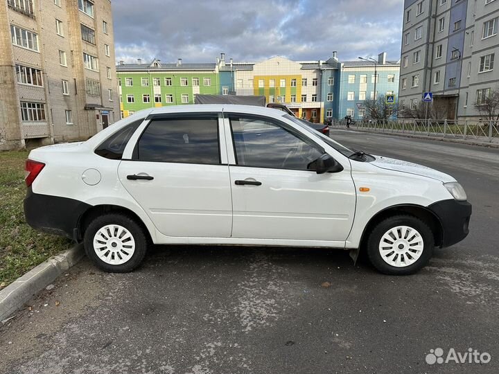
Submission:
[[[116,60],[399,60],[403,0],[116,0]]]

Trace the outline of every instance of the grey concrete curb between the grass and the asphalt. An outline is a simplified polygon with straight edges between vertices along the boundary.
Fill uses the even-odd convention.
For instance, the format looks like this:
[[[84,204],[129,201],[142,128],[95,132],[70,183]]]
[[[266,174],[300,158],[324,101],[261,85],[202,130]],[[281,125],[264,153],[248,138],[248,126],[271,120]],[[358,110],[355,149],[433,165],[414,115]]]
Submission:
[[[20,276],[0,291],[0,321],[19,310],[33,295],[76,265],[85,255],[82,244],[62,251]]]

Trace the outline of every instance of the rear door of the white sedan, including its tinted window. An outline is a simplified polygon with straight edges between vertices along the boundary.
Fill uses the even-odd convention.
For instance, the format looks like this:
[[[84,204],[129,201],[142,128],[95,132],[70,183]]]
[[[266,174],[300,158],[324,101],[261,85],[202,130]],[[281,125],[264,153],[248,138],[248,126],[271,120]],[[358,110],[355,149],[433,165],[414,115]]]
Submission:
[[[219,116],[155,115],[132,144],[131,159],[119,165],[121,183],[164,235],[231,235],[229,167],[227,154],[220,153]]]

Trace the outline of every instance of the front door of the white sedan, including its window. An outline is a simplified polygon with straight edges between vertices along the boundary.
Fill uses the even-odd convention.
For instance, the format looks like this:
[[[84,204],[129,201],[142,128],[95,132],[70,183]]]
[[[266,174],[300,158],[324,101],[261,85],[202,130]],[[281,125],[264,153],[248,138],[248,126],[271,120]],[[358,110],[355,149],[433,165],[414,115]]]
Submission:
[[[349,163],[342,172],[319,175],[309,164],[324,150],[306,134],[275,118],[225,117],[234,144],[228,147],[232,238],[325,240],[342,245],[356,204]]]

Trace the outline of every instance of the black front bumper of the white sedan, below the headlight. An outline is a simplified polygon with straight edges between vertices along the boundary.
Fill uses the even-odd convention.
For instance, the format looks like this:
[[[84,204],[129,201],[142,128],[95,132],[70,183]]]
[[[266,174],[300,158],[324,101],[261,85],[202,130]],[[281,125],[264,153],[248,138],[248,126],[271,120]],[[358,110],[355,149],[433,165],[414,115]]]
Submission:
[[[471,217],[469,202],[458,202],[455,199],[441,200],[428,208],[437,215],[442,226],[441,248],[450,247],[466,238]]]

